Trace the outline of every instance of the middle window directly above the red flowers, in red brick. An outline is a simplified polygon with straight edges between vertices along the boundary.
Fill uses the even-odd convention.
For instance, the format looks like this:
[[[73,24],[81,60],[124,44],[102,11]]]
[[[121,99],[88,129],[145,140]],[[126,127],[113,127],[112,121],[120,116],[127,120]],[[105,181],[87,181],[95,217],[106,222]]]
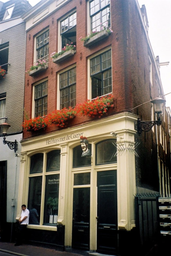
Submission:
[[[76,106],[76,68],[60,74],[60,109]]]

